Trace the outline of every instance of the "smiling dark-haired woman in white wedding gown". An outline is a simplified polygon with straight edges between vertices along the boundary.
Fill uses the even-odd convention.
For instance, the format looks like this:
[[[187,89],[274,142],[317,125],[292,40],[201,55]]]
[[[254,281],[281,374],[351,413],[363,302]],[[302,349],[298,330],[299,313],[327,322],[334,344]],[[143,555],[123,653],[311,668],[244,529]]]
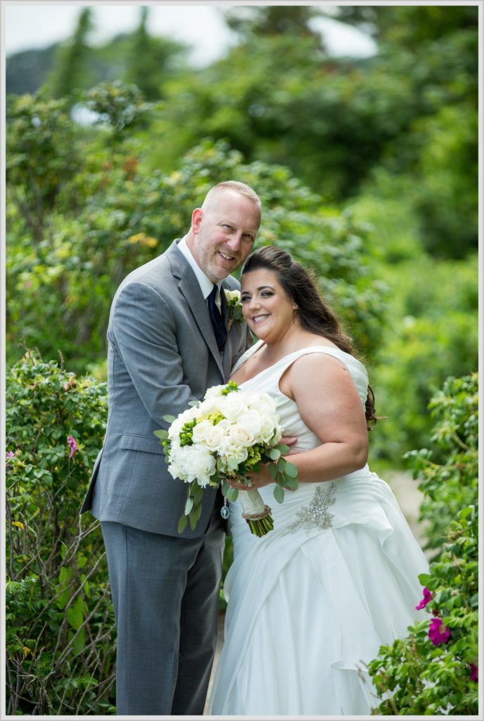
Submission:
[[[390,487],[367,466],[367,371],[308,273],[263,247],[242,271],[243,317],[259,342],[233,368],[277,402],[299,487],[274,501],[251,474],[274,530],[258,538],[230,504],[233,565],[212,715],[369,715],[365,664],[418,618],[428,570]],[[240,492],[243,487],[239,486]]]

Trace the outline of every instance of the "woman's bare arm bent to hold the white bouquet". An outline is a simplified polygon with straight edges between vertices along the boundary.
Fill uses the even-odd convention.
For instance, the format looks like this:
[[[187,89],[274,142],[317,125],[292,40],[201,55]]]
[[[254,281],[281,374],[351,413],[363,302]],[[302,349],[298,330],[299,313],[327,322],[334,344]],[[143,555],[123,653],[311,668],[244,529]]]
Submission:
[[[362,468],[368,456],[364,409],[346,367],[330,355],[298,358],[279,384],[297,402],[304,423],[321,441],[310,451],[286,456],[300,483],[330,481]],[[272,483],[267,466],[250,474],[254,486]]]

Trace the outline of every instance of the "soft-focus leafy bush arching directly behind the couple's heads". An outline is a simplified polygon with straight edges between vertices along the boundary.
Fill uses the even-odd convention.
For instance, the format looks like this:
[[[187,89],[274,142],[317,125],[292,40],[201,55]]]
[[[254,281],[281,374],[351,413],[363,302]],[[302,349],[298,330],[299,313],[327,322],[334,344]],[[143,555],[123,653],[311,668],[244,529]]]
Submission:
[[[36,198],[25,190],[19,172],[24,168],[19,128],[35,115],[37,104],[47,115],[53,102],[45,105],[42,97],[24,105],[22,99],[13,102],[19,128],[12,129],[9,140],[6,208],[10,362],[17,360],[20,342],[55,357],[61,328],[61,350],[70,367],[78,372],[94,368],[105,355],[109,304],[122,278],[184,234],[207,190],[234,177],[261,195],[264,226],[259,242],[277,243],[312,266],[343,319],[354,322],[357,344],[364,352],[375,348],[384,310],[382,288],[369,278],[362,258],[364,229],[351,216],[324,211],[321,198],[290,171],[261,162],[244,164],[241,154],[223,142],[205,141],[170,174],[151,170],[145,163],[149,147],[131,134],[146,110],[138,89],[102,84],[89,98],[104,126],[91,129],[89,136],[85,131],[76,135],[76,174],[55,175],[57,158],[71,152],[62,146],[62,135],[53,141],[52,156],[43,162],[36,159],[47,177],[55,175],[57,200],[50,212],[42,210],[41,224],[35,226],[40,236],[33,243],[24,218],[36,212]],[[68,123],[66,127],[72,130]],[[43,125],[39,132],[41,138],[31,140],[37,154]],[[70,133],[66,141],[71,141]],[[40,315],[48,317],[49,324],[39,323]]]

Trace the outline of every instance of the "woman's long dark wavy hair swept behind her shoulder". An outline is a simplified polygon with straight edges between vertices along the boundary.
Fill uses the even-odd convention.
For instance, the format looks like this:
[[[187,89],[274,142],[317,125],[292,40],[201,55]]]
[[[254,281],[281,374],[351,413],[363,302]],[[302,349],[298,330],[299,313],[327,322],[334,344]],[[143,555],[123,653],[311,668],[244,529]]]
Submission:
[[[288,252],[274,245],[265,245],[250,255],[242,268],[242,275],[252,270],[272,270],[284,291],[297,305],[297,317],[301,326],[311,333],[331,340],[338,348],[357,357],[351,338],[341,330],[339,320],[323,301],[313,279],[313,273],[292,260]],[[368,430],[375,425],[375,395],[368,386],[364,415]]]

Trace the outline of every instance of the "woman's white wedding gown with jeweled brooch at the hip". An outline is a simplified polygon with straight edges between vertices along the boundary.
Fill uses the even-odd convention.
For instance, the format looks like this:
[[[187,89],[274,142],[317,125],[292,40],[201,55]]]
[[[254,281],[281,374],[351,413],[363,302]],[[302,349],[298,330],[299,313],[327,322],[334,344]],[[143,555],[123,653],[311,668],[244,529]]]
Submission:
[[[306,353],[338,358],[362,403],[367,397],[362,363],[326,346],[291,353],[241,384],[276,399],[284,435],[297,437],[295,451],[320,443],[279,391],[282,373]],[[415,609],[417,576],[429,568],[424,553],[390,487],[368,466],[333,482],[300,483],[282,504],[273,490],[260,490],[274,518],[262,538],[251,534],[240,503],[230,503],[234,559],[210,714],[369,715],[378,699],[365,663],[424,618]]]

